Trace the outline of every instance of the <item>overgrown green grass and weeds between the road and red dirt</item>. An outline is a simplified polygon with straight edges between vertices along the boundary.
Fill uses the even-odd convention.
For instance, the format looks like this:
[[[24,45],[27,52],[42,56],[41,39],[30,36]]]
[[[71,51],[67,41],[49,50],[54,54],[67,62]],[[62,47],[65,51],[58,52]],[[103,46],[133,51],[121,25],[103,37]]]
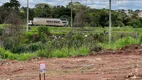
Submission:
[[[18,46],[18,52],[12,52],[11,49],[5,50],[5,47],[1,48],[1,58],[25,60],[38,56],[46,58],[85,56],[102,49],[115,50],[126,45],[142,43],[141,29],[113,28],[111,44],[108,44],[108,34],[103,33],[104,28],[74,28],[64,34],[60,32],[61,29],[40,26],[34,29],[36,33],[25,33],[24,43]],[[59,33],[56,34],[53,31]]]

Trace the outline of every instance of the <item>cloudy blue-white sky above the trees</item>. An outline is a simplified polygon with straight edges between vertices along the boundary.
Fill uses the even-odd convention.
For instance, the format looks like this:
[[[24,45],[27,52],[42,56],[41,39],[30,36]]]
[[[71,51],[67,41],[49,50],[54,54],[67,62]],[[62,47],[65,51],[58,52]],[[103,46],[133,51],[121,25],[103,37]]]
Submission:
[[[9,0],[0,0],[0,6],[8,2]],[[24,7],[27,5],[27,0],[18,0]],[[71,0],[29,0],[30,7],[33,8],[35,4],[47,3],[53,6],[63,5],[66,6]],[[109,0],[72,0],[73,2],[80,2],[81,4],[87,5],[91,8],[109,8]],[[142,10],[142,0],[112,0],[112,9],[132,9]]]

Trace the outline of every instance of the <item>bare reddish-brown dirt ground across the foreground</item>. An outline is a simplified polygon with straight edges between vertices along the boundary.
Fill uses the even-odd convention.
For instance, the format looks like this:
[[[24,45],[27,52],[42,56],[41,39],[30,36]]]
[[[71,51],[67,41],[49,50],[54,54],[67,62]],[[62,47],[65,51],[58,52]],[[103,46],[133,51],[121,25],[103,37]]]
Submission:
[[[85,57],[1,60],[0,80],[39,80],[40,62],[46,63],[46,80],[142,80],[142,45]]]

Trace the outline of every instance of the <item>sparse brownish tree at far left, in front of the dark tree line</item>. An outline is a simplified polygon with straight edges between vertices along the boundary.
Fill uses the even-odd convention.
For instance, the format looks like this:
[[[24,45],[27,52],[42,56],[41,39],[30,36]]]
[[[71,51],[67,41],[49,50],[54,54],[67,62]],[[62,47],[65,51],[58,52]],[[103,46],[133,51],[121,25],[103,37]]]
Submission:
[[[6,18],[6,24],[9,24],[5,28],[2,37],[3,45],[5,49],[11,50],[14,53],[19,52],[18,48],[23,40],[23,25],[20,17],[12,11],[10,15]]]

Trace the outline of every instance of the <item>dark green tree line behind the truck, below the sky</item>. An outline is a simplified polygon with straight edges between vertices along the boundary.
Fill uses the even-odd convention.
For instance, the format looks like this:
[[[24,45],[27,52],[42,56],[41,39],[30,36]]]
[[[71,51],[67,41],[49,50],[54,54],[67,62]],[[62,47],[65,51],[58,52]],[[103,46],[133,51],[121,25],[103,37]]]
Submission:
[[[109,25],[109,10],[90,8],[79,2],[68,3],[66,6],[52,6],[47,3],[38,3],[34,8],[29,8],[29,20],[34,17],[44,18],[66,18],[71,20],[71,6],[73,11],[73,24],[75,27],[107,27]],[[0,6],[0,23],[5,22],[5,18],[11,11],[26,22],[27,7],[22,7],[17,0],[10,0]],[[142,27],[142,18],[138,17],[141,10],[112,10],[112,26],[124,27],[132,26],[135,28]]]

